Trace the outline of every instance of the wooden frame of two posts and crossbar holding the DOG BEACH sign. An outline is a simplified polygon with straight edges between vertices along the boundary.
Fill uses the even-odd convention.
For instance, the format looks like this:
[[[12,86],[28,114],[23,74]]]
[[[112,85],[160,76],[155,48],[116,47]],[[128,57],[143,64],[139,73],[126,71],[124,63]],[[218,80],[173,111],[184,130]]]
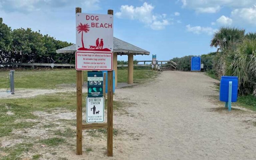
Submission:
[[[76,13],[81,13],[82,9],[77,7]],[[113,10],[108,10],[108,14],[113,15]],[[108,103],[107,103],[107,123],[86,123],[82,124],[82,70],[76,71],[76,154],[82,155],[82,130],[83,129],[107,129],[107,156],[113,156],[113,71],[108,71]]]

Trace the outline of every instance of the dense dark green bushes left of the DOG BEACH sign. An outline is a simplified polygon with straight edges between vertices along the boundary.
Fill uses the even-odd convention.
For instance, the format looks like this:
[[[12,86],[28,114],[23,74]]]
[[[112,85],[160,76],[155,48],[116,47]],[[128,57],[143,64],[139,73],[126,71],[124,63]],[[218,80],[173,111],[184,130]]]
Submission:
[[[73,63],[74,54],[57,54],[56,50],[72,43],[42,35],[30,28],[12,30],[0,18],[0,63]]]

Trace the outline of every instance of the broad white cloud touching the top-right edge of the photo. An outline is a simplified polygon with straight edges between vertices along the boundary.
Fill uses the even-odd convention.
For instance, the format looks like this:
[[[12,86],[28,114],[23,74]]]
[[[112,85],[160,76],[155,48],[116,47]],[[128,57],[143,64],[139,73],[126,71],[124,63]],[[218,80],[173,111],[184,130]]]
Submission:
[[[216,13],[223,6],[231,8],[247,8],[256,4],[255,0],[178,0],[183,8],[195,10],[197,13]]]

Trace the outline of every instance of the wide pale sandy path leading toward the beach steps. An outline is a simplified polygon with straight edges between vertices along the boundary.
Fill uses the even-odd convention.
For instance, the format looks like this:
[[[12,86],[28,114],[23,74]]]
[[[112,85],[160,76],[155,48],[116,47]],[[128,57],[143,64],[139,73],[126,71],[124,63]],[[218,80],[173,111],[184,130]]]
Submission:
[[[153,83],[117,90],[117,99],[136,105],[127,109],[134,117],[116,116],[114,124],[138,139],[114,140],[113,159],[255,160],[256,127],[244,122],[255,112],[213,111],[220,107],[209,97],[218,95],[214,82],[203,73],[167,71]]]

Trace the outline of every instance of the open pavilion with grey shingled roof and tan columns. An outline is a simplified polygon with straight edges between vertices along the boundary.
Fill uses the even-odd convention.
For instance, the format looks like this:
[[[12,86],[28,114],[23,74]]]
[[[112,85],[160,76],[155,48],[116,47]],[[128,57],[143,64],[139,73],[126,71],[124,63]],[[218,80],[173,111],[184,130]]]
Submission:
[[[74,53],[76,45],[56,50],[57,53]],[[117,55],[128,55],[128,84],[133,84],[133,55],[149,55],[150,52],[134,46],[128,42],[122,41],[114,37],[113,48],[113,69],[115,70],[115,86],[117,86]]]

